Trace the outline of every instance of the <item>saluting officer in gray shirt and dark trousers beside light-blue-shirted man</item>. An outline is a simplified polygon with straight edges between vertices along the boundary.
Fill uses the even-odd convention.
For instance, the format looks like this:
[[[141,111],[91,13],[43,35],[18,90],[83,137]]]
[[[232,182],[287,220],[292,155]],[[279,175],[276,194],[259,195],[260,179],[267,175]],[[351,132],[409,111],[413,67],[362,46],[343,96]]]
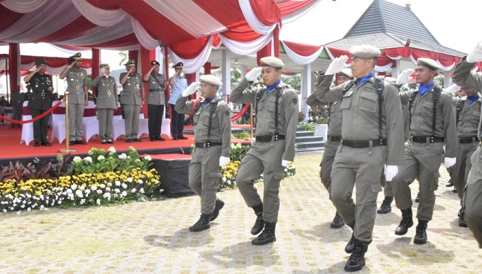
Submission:
[[[159,73],[159,65],[158,61],[151,61],[151,69],[143,78],[149,87],[149,94],[147,95],[147,115],[149,116],[149,138],[151,141],[165,140],[160,136],[160,127],[163,125],[167,81],[166,77]]]

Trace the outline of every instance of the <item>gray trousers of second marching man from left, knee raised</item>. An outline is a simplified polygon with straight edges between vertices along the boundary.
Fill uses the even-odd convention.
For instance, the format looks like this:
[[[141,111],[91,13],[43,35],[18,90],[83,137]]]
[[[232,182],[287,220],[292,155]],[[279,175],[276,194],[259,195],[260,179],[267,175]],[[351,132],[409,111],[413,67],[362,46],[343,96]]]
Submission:
[[[278,211],[280,211],[280,181],[284,178],[281,157],[284,145],[284,140],[277,140],[273,143],[254,142],[242,159],[238,175],[236,175],[236,185],[238,185],[244,202],[248,207],[262,203],[262,218],[266,222],[277,222]],[[254,186],[255,180],[260,178],[262,172],[264,172],[263,200]]]

